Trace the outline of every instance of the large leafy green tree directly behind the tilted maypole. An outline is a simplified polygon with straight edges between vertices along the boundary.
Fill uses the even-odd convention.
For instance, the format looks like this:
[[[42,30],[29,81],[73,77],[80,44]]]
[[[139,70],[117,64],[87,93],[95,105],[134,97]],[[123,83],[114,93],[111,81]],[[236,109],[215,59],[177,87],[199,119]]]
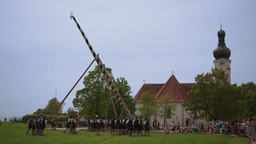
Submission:
[[[106,68],[112,80],[114,77],[111,73],[110,68]],[[88,100],[89,94],[91,92],[92,86],[94,85],[97,74],[100,71],[99,66],[97,65],[93,71],[89,71],[88,76],[84,78],[84,88],[77,91],[75,98],[73,99],[73,105],[76,109],[81,111],[85,105],[85,101]],[[119,93],[121,97],[124,99],[127,107],[129,107],[130,111],[134,113],[135,111],[135,102],[131,97],[131,87],[128,85],[128,82],[124,79],[124,77],[118,78],[115,82],[115,85],[119,89]],[[112,91],[111,91],[112,92]],[[115,99],[114,94],[114,104],[115,108],[117,109],[118,115],[121,112],[121,107],[117,99]],[[91,97],[88,101],[86,109],[84,111],[85,117],[92,116],[95,117],[96,115],[101,116],[106,109],[106,104],[109,103],[110,94],[108,90],[107,81],[104,75],[100,75],[94,91],[91,94]],[[112,106],[109,106],[108,116],[114,117],[114,112]]]

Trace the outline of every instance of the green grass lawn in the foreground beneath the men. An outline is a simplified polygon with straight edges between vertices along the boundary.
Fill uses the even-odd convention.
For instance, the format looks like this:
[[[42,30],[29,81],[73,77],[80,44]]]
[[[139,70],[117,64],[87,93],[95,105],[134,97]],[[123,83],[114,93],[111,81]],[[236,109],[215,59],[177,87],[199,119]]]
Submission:
[[[22,126],[23,125],[23,126]],[[0,127],[0,143],[232,143],[232,144],[248,144],[246,138],[223,136],[223,135],[207,135],[207,134],[169,134],[150,133],[150,137],[129,137],[127,135],[110,135],[109,131],[95,135],[93,132],[79,130],[77,134],[62,133],[63,130],[51,131],[46,129],[44,136],[31,136],[31,131],[26,136],[27,124],[2,122]]]

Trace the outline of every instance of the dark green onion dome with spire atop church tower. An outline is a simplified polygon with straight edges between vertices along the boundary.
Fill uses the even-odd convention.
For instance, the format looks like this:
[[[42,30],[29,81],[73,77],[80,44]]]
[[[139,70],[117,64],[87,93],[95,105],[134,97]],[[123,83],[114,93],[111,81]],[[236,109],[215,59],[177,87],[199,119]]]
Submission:
[[[226,33],[225,31],[222,30],[221,25],[220,25],[220,30],[218,31],[217,34],[219,38],[219,43],[216,49],[213,50],[213,56],[216,59],[220,59],[220,58],[229,59],[231,55],[231,51],[228,47],[226,47],[226,44],[225,44]]]

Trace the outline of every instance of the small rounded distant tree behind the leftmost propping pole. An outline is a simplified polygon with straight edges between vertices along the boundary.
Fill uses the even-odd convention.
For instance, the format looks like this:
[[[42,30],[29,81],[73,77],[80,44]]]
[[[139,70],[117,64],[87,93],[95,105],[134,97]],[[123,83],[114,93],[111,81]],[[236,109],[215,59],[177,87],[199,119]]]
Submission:
[[[52,98],[49,100],[48,104],[46,105],[46,107],[44,108],[44,114],[48,114],[50,115],[51,113],[54,112],[54,110],[59,106],[60,102],[57,100],[57,98]],[[62,107],[65,105],[65,103],[63,103],[59,110],[57,110],[55,112],[55,115],[60,115],[62,113]]]

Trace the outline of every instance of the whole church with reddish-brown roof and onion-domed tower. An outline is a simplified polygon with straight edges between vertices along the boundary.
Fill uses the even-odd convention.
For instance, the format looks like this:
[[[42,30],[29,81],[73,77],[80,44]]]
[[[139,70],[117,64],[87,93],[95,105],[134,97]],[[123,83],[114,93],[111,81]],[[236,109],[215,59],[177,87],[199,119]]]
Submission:
[[[223,69],[226,74],[229,74],[228,82],[230,83],[230,63],[229,59],[231,51],[225,45],[225,31],[220,28],[218,31],[219,43],[216,49],[213,51],[214,67],[218,69]],[[182,125],[189,125],[191,123],[205,123],[204,119],[197,119],[197,113],[191,113],[190,111],[185,111],[182,104],[188,100],[187,93],[192,89],[195,83],[179,83],[176,77],[172,74],[170,79],[165,83],[144,83],[141,89],[137,92],[133,99],[136,100],[136,108],[141,107],[141,94],[145,91],[149,91],[151,94],[155,95],[156,101],[160,101],[161,97],[170,93],[173,98],[169,101],[170,103],[176,105],[175,115],[166,117],[166,123],[171,124],[172,121],[175,123],[181,123]],[[168,113],[167,113],[168,114]],[[138,109],[135,115],[140,115]],[[159,117],[156,113],[154,116],[158,119],[160,124],[164,124],[164,118]]]

